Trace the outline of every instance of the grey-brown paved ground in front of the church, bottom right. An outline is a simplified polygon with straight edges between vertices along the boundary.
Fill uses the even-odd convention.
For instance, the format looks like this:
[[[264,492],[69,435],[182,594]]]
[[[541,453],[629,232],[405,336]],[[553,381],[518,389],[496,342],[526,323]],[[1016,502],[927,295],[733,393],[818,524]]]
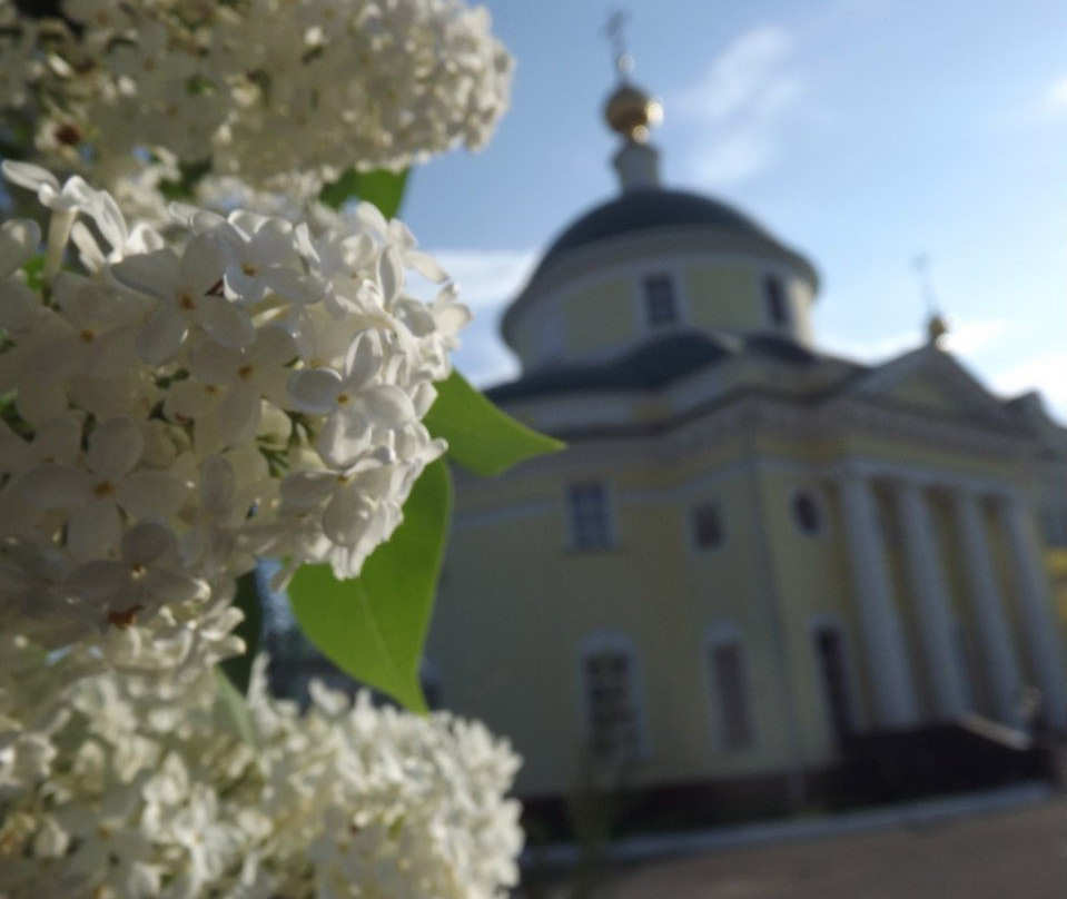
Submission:
[[[553,893],[573,896],[571,889]],[[596,899],[1063,899],[1067,800],[619,868]]]

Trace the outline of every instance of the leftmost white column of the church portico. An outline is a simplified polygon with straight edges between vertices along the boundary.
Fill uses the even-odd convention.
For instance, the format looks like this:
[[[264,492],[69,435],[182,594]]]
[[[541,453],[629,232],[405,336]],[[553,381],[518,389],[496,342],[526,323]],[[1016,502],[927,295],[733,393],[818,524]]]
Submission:
[[[844,478],[841,507],[875,714],[882,727],[913,727],[919,723],[919,703],[870,485],[858,477]]]

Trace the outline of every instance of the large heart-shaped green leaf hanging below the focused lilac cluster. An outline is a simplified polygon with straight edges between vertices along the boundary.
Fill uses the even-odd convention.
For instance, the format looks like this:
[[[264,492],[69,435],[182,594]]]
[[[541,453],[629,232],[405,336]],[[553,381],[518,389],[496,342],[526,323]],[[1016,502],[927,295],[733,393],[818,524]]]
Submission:
[[[308,640],[342,670],[417,712],[426,711],[418,665],[451,506],[448,470],[438,460],[358,579],[338,581],[329,565],[305,565],[289,583],[289,603]]]

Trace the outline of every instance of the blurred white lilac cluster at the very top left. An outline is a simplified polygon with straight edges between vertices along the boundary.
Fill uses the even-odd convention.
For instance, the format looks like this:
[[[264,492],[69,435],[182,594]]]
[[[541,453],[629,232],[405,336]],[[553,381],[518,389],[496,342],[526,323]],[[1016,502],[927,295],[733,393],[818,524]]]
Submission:
[[[38,20],[0,0],[0,108],[33,122],[53,164],[125,184],[124,208],[177,162],[312,196],[354,165],[480,148],[507,105],[511,57],[460,0],[60,8]],[[144,177],[138,149],[162,169]]]

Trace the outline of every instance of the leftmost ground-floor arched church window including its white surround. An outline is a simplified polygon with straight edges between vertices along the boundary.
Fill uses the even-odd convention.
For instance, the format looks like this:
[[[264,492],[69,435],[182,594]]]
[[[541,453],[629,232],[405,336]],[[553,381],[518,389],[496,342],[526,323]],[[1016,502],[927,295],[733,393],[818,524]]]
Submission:
[[[592,757],[624,762],[644,754],[644,714],[632,641],[619,633],[589,638],[582,646],[581,678]]]

